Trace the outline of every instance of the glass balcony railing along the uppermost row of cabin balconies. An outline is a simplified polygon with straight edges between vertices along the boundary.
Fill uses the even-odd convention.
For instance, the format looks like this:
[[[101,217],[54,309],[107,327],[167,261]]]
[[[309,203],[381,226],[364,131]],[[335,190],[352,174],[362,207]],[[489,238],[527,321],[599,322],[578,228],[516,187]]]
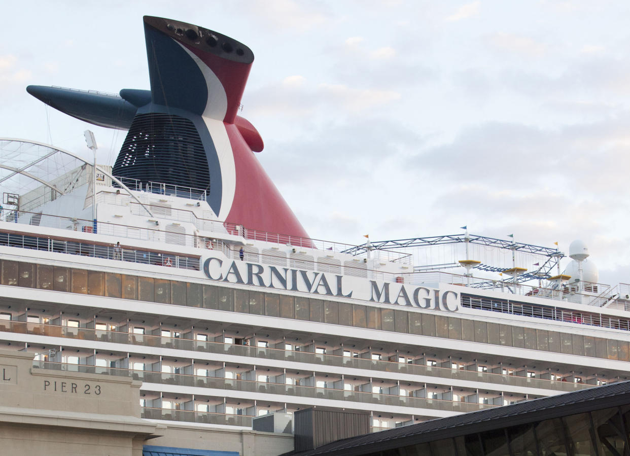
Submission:
[[[150,336],[148,334],[124,333],[120,331],[106,331],[103,329],[74,328],[53,324],[28,323],[21,321],[1,321],[0,331],[39,336],[62,337],[67,339],[91,340],[99,342],[118,343],[135,346],[149,346],[171,348],[175,350],[198,351],[217,355],[244,356],[256,358],[253,364],[261,365],[260,358],[279,360],[284,362],[308,363],[323,367],[344,367],[360,370],[381,371],[398,374],[423,375],[435,379],[458,379],[471,382],[486,382],[490,384],[513,387],[530,387],[557,391],[573,391],[592,386],[592,384],[575,384],[558,380],[537,379],[506,375],[503,373],[475,372],[471,370],[454,369],[448,367],[427,366],[423,364],[392,362],[387,360],[372,360],[355,358],[353,356],[329,355],[307,351],[284,350],[282,348],[262,348],[246,345],[235,345],[215,341],[199,341],[183,338],[169,338],[164,336]],[[366,373],[368,377],[373,374]],[[613,382],[614,380],[607,380]]]

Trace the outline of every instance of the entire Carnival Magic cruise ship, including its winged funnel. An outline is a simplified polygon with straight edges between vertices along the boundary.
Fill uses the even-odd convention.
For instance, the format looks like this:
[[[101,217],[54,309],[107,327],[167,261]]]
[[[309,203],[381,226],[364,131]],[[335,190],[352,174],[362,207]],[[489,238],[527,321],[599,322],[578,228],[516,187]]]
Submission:
[[[253,52],[144,30],[150,90],[27,88],[127,130],[115,162],[0,139],[2,350],[140,380],[142,418],[234,430],[316,407],[378,431],[627,380],[630,286],[599,283],[583,242],[311,237],[239,115]]]

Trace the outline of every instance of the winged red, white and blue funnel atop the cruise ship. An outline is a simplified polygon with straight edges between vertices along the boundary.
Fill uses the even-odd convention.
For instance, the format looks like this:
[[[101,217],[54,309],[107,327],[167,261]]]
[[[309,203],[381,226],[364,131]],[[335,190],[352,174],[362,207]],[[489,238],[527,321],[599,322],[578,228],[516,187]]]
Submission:
[[[128,129],[115,176],[205,190],[220,220],[307,238],[252,153],[263,149],[260,134],[237,115],[253,52],[221,33],[164,18],[145,16],[144,33],[151,91],[27,90],[86,122]]]

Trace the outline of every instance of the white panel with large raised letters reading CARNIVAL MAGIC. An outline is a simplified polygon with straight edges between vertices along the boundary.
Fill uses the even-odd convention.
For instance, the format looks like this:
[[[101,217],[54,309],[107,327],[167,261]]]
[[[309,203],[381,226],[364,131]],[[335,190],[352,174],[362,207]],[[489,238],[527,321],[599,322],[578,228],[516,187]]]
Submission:
[[[239,260],[210,257],[203,261],[203,273],[217,282],[355,298],[382,304],[406,305],[435,311],[459,311],[458,294],[403,283],[380,282],[332,273],[282,268]]]

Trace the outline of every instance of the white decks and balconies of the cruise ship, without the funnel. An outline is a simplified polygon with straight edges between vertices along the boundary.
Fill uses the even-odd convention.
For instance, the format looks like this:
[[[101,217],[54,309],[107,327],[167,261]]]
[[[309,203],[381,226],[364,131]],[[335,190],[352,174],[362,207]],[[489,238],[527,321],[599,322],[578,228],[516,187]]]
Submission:
[[[532,270],[556,265],[553,249],[495,240],[505,258],[482,262],[466,232],[441,251],[416,242],[422,265],[391,242],[224,224],[202,192],[117,183],[98,165],[95,224],[91,166],[44,179],[43,161],[13,166],[30,186],[0,181],[0,348],[38,353],[38,368],[142,380],[144,418],[249,427],[326,406],[370,413],[379,429],[630,371],[627,285],[595,283],[586,262],[581,281]]]

